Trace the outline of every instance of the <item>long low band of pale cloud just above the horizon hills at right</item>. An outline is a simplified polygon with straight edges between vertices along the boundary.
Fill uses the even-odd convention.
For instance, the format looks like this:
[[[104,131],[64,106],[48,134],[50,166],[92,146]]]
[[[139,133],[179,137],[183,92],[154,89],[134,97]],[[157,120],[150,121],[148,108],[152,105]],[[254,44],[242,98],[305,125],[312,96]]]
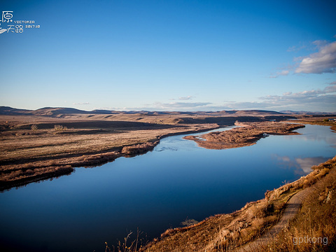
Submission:
[[[102,108],[100,108],[102,109]],[[323,90],[304,90],[302,92],[283,92],[282,95],[259,97],[257,102],[154,102],[141,107],[103,108],[123,111],[223,111],[232,109],[265,109],[293,111],[336,112],[336,83]]]

